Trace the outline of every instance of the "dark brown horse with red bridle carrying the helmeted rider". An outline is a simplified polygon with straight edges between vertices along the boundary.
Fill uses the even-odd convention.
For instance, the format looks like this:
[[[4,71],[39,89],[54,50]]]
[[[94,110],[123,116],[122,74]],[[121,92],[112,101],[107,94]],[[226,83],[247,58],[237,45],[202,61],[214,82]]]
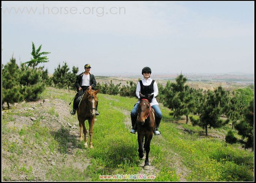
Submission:
[[[146,159],[144,164],[144,170],[149,170],[150,166],[148,164],[148,154],[150,151],[150,142],[153,137],[153,131],[155,129],[155,114],[153,108],[150,106],[150,102],[153,99],[152,96],[144,96],[140,94],[140,102],[138,107],[138,144],[139,144],[139,157],[143,158],[146,150]],[[143,146],[143,139],[145,137],[145,142]]]

